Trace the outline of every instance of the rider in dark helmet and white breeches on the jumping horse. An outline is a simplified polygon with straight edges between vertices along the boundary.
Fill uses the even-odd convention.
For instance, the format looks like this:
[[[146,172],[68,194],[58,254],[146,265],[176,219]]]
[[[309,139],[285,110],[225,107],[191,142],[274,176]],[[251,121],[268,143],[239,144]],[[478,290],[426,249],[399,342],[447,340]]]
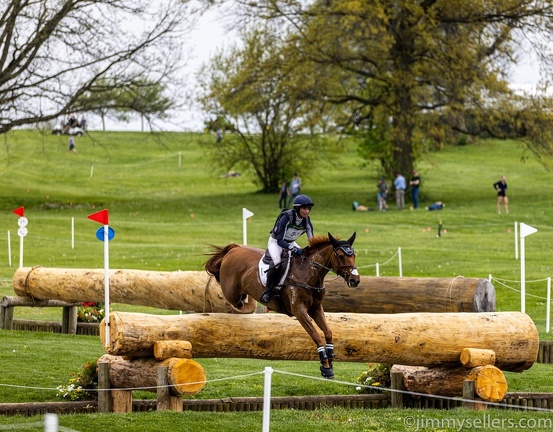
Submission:
[[[273,294],[273,288],[281,276],[280,271],[275,271],[282,259],[283,251],[290,251],[296,255],[303,255],[302,248],[296,243],[296,239],[304,233],[311,240],[313,237],[313,225],[309,219],[311,207],[315,204],[307,195],[298,195],[294,199],[291,210],[283,210],[278,216],[267,245],[267,251],[271,256],[272,263],[267,271],[267,285],[259,301],[269,303]]]

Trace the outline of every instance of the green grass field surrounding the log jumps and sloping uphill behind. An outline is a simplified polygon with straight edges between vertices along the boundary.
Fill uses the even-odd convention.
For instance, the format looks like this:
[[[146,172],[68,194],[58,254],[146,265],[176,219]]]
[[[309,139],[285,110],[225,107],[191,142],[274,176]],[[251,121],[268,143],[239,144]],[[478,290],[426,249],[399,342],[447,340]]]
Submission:
[[[11,278],[19,266],[17,216],[12,213],[19,206],[25,207],[29,220],[29,234],[24,238],[26,267],[102,268],[103,244],[95,237],[100,225],[87,216],[107,208],[110,226],[116,233],[110,242],[110,267],[159,271],[202,270],[210,244],[241,243],[242,208],[254,213],[247,223],[248,244],[264,247],[279,211],[277,195],[258,193],[248,173],[222,178],[224,173],[211,167],[202,151],[205,140],[214,139],[209,135],[164,134],[154,138],[140,133],[96,132],[77,139],[78,154],[67,151],[67,137],[15,131],[3,138],[2,296],[13,295]],[[357,264],[362,275],[374,275],[379,263],[380,275],[397,276],[398,248],[402,251],[403,276],[487,278],[491,274],[497,291],[497,309],[511,311],[520,310],[521,268],[520,261],[515,259],[514,224],[529,224],[538,232],[526,238],[526,311],[536,323],[540,338],[552,339],[551,333],[545,332],[545,279],[553,272],[548,250],[553,240],[549,222],[551,173],[509,141],[449,148],[427,155],[417,168],[423,181],[422,207],[440,200],[446,203],[444,210],[429,212],[422,208],[400,212],[390,203],[391,210],[385,213],[353,212],[354,200],[376,206],[379,176],[376,165],[357,157],[353,144],[334,155],[332,166],[321,165],[313,167],[312,172],[300,173],[303,191],[316,203],[311,215],[316,233],[330,231],[349,237],[356,231]],[[502,174],[509,184],[510,213],[498,215],[492,184]],[[447,233],[436,238],[440,221]],[[302,240],[300,243],[304,244]],[[112,309],[175,313],[119,304]],[[59,321],[61,311],[17,308],[15,315],[15,318]],[[41,388],[65,384],[71,371],[101,354],[96,338],[0,331],[3,370],[0,383],[23,386],[0,387],[0,402],[56,400],[55,392]],[[201,363],[208,379],[262,372],[266,366],[266,362],[254,360],[219,359]],[[302,375],[317,375],[317,365],[311,362],[270,362],[270,365]],[[352,385],[337,382],[321,385],[320,381],[277,374],[273,394],[355,393],[353,384],[364,365],[336,366],[337,379]],[[548,365],[534,365],[522,374],[508,374],[510,390],[551,391],[552,375]],[[259,376],[216,382],[208,384],[197,397],[261,396],[261,383]],[[382,417],[388,414],[378,412],[329,410],[299,413],[297,417],[295,413],[275,413],[274,418],[282,427],[274,430],[292,427],[311,430],[328,423],[334,430],[404,430],[398,427],[399,419],[408,414],[393,410],[390,413],[393,414],[386,419]],[[427,414],[443,416],[425,411]],[[470,418],[475,414],[460,410],[455,415]],[[194,414],[186,420],[194,419],[193,422],[183,419],[179,426],[187,430],[245,430],[248,424],[259,425],[260,416]],[[98,430],[105,418],[112,421],[110,430],[134,430],[134,427],[168,430],[175,425],[172,414],[124,416],[124,420],[117,416],[71,418],[63,425],[82,431]],[[0,425],[9,424],[4,420],[0,418]],[[149,426],[150,423],[154,426]],[[257,427],[260,426],[253,429]]]

